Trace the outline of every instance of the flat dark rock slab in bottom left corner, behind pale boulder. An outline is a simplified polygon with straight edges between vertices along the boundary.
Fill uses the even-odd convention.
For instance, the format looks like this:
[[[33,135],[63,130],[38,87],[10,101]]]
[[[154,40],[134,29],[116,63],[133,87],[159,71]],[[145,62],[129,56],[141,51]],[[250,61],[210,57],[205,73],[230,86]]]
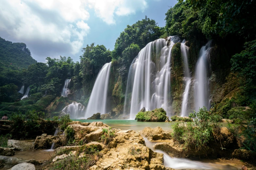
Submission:
[[[16,157],[10,157],[10,156],[0,156],[0,167],[4,167],[4,168],[10,168],[13,167],[14,165],[17,165],[19,163],[32,163],[32,164],[36,164],[38,163],[36,160],[31,159],[31,160],[23,160],[23,159],[19,159]]]

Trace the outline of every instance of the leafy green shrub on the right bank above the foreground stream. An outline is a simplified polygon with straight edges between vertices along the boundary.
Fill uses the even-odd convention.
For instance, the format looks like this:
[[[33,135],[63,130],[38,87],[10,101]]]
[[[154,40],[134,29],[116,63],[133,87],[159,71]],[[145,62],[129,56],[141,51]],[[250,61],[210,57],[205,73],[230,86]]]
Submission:
[[[207,111],[206,107],[190,113],[189,118],[194,121],[187,124],[177,122],[173,126],[173,138],[184,143],[186,149],[206,151],[207,143],[220,132],[221,124],[214,114]]]

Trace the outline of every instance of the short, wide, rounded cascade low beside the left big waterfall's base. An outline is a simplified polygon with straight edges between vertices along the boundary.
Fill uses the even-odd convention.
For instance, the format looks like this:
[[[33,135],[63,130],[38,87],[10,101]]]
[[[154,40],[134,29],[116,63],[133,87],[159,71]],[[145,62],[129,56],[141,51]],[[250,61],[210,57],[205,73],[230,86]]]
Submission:
[[[69,114],[71,119],[84,117],[84,106],[81,103],[73,102],[62,109],[62,114]]]

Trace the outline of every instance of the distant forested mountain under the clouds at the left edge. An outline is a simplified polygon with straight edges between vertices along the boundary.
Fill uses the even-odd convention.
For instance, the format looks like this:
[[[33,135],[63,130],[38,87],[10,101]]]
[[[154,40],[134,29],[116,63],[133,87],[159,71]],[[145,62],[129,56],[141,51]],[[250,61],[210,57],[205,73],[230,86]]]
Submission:
[[[0,69],[21,70],[35,63],[25,43],[12,43],[0,37]]]

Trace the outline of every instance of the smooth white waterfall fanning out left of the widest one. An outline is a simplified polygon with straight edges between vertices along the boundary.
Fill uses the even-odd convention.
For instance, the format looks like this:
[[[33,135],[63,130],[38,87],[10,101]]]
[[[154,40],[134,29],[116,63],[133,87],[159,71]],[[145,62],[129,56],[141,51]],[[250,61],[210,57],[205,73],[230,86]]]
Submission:
[[[111,62],[106,63],[101,68],[96,81],[94,83],[93,91],[91,93],[88,106],[86,108],[85,118],[93,116],[95,113],[106,114],[107,93],[110,77]]]

